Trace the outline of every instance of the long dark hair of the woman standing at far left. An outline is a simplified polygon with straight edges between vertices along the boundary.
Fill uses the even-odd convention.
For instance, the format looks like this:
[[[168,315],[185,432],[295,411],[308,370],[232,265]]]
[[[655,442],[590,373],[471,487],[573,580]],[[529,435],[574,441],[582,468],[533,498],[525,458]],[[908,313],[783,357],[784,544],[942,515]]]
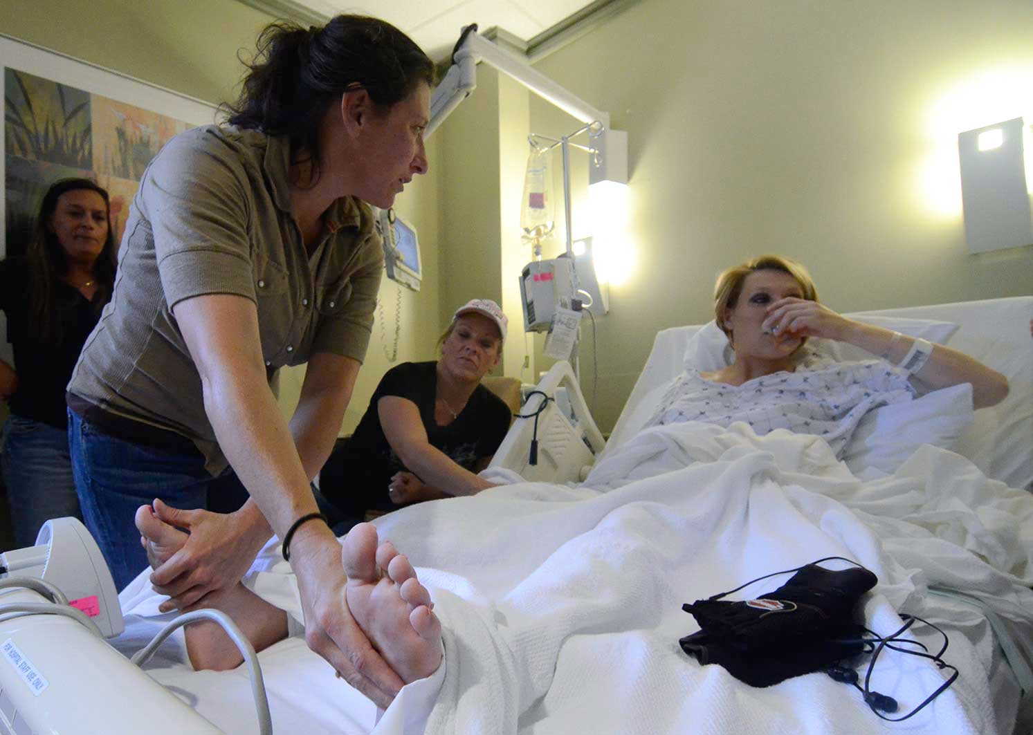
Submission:
[[[61,320],[57,318],[54,298],[55,283],[68,273],[68,258],[58,236],[51,231],[51,219],[58,209],[58,199],[69,191],[88,189],[100,194],[107,210],[107,239],[100,255],[93,262],[93,278],[97,291],[93,303],[97,311],[112,298],[115,284],[116,244],[115,228],[112,226],[112,204],[107,190],[89,179],[61,179],[51,185],[39,205],[39,215],[33,228],[33,237],[25,257],[29,266],[29,315],[35,325],[40,342],[59,344],[63,338]]]

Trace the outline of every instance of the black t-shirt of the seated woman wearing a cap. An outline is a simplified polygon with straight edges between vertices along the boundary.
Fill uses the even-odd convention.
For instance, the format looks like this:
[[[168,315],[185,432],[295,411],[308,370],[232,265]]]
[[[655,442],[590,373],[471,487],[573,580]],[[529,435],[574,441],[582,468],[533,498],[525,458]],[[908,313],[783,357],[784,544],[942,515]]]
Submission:
[[[361,515],[367,509],[397,508],[387,496],[392,476],[406,470],[390,448],[377,404],[385,395],[407,398],[419,409],[419,418],[431,446],[471,472],[477,461],[495,454],[509,430],[511,414],[500,397],[478,385],[446,426],[434,420],[437,400],[437,362],[403,362],[380,380],[355,433],[341,443],[320,473],[319,489],[345,512]]]

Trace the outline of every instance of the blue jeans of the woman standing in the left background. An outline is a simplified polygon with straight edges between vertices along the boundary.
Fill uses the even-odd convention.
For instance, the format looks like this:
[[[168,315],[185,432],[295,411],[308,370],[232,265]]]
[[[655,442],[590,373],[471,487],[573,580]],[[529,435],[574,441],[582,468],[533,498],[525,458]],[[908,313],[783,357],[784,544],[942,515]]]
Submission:
[[[67,430],[11,414],[0,447],[17,548],[35,545],[39,528],[51,518],[82,519]]]

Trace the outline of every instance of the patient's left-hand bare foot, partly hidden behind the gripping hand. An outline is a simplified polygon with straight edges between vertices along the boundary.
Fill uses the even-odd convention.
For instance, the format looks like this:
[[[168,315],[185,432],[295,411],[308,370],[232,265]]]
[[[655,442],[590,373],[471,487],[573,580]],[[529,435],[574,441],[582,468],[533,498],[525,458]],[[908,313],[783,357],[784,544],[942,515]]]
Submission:
[[[155,503],[161,503],[156,500]],[[179,551],[189,535],[169,525],[154,514],[151,506],[136,509],[136,530],[140,543],[147,549],[147,561],[157,569]],[[226,589],[209,593],[189,609],[215,609],[229,615],[255,650],[287,637],[287,614],[238,582]],[[228,671],[244,662],[237,644],[230,640],[222,626],[214,620],[190,622],[184,628],[187,656],[194,669]]]

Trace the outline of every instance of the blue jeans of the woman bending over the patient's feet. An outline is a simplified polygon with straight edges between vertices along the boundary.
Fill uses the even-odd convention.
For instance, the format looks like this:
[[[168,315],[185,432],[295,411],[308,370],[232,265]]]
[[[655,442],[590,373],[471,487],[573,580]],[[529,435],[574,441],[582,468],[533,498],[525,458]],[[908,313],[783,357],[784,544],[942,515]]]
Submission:
[[[68,446],[86,528],[121,592],[147,568],[134,516],[160,498],[174,508],[223,513],[248,498],[237,475],[212,477],[199,451],[180,453],[108,436],[68,412]]]

